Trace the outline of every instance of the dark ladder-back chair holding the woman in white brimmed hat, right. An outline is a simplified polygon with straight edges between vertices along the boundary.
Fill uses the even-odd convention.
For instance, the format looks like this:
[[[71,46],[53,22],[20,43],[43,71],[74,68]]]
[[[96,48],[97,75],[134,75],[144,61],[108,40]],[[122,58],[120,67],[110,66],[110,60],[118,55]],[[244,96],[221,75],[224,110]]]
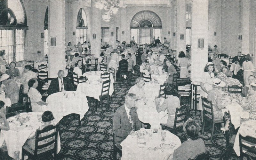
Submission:
[[[214,127],[215,124],[221,124],[223,123],[223,119],[215,119],[214,118],[214,113],[213,113],[213,108],[212,108],[212,101],[208,101],[207,98],[202,96],[202,105],[203,105],[203,129],[202,129],[202,134],[204,133],[204,126],[205,122],[209,121],[212,122],[212,134],[211,134],[211,141],[213,136],[220,136],[223,135],[223,133],[216,133],[214,134]]]

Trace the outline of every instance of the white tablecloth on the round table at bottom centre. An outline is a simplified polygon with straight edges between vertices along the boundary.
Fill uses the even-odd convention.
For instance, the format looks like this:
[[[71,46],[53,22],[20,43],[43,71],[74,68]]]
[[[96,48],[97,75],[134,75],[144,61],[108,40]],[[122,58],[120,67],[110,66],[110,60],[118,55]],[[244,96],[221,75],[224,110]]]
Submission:
[[[148,131],[149,129],[146,129]],[[171,132],[165,130],[166,138],[165,141],[171,143],[174,147],[172,149],[162,149],[160,144],[161,141],[161,133],[153,133],[152,138],[149,138],[149,134],[145,135],[146,146],[144,148],[139,148],[137,145],[137,137],[127,136],[124,141],[120,144],[122,148],[122,157],[121,160],[167,160],[173,158],[173,152],[180,145],[180,139],[178,136],[175,136]],[[148,150],[149,147],[160,147],[156,151]]]

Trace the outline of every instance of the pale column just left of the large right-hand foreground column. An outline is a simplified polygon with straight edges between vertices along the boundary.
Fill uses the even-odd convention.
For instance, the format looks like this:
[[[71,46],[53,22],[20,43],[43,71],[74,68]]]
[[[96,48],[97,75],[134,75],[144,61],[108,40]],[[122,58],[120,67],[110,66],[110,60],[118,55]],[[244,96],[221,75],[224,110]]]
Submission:
[[[177,23],[176,23],[176,53],[177,57],[180,51],[186,53],[186,0],[177,0]],[[183,39],[180,39],[183,35]]]

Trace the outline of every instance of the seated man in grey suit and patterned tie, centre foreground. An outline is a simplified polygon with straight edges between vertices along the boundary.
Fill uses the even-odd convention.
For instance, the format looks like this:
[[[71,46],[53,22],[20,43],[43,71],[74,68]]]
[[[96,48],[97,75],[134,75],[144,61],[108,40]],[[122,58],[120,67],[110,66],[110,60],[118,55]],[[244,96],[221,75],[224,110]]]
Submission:
[[[122,148],[120,143],[128,135],[135,135],[134,131],[141,128],[141,122],[135,109],[135,101],[136,94],[126,94],[124,105],[119,107],[113,116],[113,133],[115,135],[115,143],[119,148]]]

